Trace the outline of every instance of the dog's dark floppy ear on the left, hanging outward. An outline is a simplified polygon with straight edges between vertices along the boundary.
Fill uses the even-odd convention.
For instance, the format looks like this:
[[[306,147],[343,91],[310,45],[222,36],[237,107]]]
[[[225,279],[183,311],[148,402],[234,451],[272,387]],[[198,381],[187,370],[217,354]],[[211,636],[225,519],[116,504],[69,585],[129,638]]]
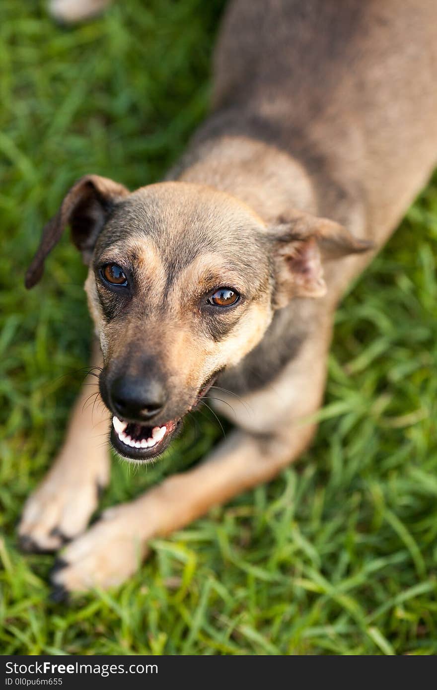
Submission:
[[[129,194],[122,184],[99,175],[85,175],[70,189],[57,214],[43,228],[37,253],[26,273],[26,288],[32,288],[44,270],[44,261],[59,242],[67,225],[71,228],[74,244],[87,264],[93,253],[97,237],[113,206]]]

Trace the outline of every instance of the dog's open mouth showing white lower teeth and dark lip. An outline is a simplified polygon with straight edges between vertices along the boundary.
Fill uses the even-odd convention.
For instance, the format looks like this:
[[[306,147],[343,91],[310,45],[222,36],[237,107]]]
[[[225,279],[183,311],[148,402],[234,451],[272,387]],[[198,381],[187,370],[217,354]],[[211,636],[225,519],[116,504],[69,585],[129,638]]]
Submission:
[[[148,426],[124,422],[114,416],[110,440],[120,455],[130,460],[147,461],[164,451],[176,427],[175,420],[164,426]]]

